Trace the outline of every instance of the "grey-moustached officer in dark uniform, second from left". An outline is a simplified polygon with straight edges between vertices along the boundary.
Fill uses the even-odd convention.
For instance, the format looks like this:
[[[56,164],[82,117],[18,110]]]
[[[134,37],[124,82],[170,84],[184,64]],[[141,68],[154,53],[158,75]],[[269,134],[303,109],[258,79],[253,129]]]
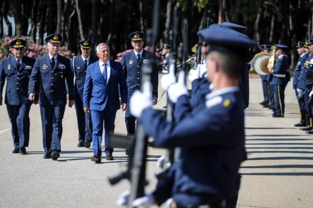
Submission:
[[[59,53],[62,36],[51,34],[45,38],[48,54],[36,59],[33,71],[29,78],[28,95],[33,101],[34,93],[37,91],[35,85],[39,83],[39,104],[43,128],[44,158],[57,160],[60,157],[62,119],[67,104],[74,104],[73,75],[69,59]]]

